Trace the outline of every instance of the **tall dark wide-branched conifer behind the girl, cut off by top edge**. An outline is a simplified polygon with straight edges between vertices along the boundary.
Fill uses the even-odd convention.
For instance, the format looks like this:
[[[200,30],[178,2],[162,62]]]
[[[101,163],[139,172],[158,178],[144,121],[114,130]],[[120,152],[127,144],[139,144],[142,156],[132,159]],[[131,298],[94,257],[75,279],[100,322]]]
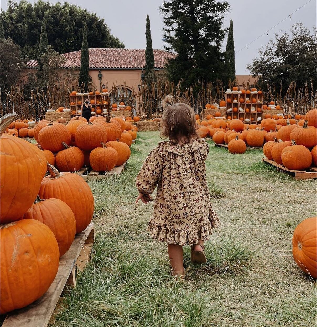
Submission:
[[[194,85],[204,90],[208,82],[222,79],[224,54],[220,49],[226,33],[222,21],[228,9],[227,1],[163,2],[160,6],[165,23],[163,31],[169,43],[165,49],[177,53],[167,63],[169,80],[180,81],[183,87]]]

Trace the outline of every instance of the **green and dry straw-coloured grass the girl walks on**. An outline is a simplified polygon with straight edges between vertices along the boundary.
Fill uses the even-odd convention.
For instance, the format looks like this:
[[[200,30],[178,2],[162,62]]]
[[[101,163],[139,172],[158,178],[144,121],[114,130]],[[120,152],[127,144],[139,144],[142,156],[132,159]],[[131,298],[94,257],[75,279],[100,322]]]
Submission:
[[[316,181],[277,172],[259,150],[230,155],[208,141],[220,227],[206,243],[205,265],[191,264],[184,248],[180,281],[170,275],[166,244],[145,232],[153,203],[135,204],[135,176],[159,141],[157,132],[139,132],[123,174],[89,181],[96,243],[50,326],[316,326],[316,284],[291,252],[294,228],[316,215]]]

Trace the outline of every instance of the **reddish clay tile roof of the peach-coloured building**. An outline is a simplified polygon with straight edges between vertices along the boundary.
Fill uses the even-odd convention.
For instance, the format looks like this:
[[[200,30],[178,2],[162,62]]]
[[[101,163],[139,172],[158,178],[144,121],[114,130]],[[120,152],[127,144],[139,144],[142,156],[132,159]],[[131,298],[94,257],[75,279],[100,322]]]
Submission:
[[[164,68],[167,58],[175,57],[174,53],[153,49],[154,68]],[[81,51],[64,53],[66,58],[62,68],[80,67]],[[37,68],[36,60],[30,60],[27,68]],[[145,49],[89,48],[89,68],[145,68]]]

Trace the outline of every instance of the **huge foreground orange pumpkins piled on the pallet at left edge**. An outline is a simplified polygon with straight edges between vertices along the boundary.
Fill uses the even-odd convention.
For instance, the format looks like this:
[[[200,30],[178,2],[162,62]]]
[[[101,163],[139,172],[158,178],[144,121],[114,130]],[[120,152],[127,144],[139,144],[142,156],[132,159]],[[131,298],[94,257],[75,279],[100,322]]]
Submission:
[[[15,118],[0,119],[0,314],[48,290],[60,257],[94,214],[94,196],[79,175],[58,172],[37,146],[4,133]]]

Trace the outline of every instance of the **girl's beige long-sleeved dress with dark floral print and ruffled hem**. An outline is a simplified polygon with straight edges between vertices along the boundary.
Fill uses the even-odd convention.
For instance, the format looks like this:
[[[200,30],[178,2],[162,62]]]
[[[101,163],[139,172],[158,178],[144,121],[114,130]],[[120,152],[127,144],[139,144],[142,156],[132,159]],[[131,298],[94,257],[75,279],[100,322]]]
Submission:
[[[207,241],[219,225],[206,181],[205,159],[209,146],[204,139],[184,145],[160,142],[136,177],[142,194],[157,186],[153,217],[147,231],[168,244],[190,245]]]

